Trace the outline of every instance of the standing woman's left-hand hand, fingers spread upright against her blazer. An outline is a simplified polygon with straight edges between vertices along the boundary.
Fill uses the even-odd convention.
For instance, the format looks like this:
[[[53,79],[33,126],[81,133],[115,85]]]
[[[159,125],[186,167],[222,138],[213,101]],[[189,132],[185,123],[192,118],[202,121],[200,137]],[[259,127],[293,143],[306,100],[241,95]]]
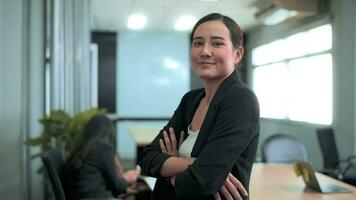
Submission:
[[[161,151],[163,153],[170,154],[172,156],[178,157],[179,147],[183,143],[184,140],[184,132],[180,132],[179,143],[177,145],[176,136],[174,134],[174,130],[172,127],[169,127],[167,131],[163,131],[163,138],[159,140],[159,145],[161,147]]]

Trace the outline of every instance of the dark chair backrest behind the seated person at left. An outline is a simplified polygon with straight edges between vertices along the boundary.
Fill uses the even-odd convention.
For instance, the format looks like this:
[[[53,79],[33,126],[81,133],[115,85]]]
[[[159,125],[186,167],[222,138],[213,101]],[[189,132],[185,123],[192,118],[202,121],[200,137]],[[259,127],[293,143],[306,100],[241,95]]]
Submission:
[[[50,178],[56,200],[65,200],[65,193],[61,182],[64,168],[62,153],[58,149],[52,149],[43,155],[41,159]]]

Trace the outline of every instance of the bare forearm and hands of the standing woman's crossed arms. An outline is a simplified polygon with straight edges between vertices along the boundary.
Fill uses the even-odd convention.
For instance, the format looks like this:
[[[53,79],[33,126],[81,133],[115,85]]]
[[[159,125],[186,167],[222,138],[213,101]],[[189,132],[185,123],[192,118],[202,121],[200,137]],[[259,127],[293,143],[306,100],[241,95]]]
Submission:
[[[168,158],[160,168],[160,175],[165,177],[171,177],[170,181],[172,185],[175,185],[175,177],[185,171],[189,165],[193,164],[196,158],[183,158],[179,157],[179,147],[184,140],[183,131],[180,133],[179,142],[177,143],[173,128],[169,128],[169,133],[163,131],[163,138],[159,140],[161,151],[172,155]],[[224,185],[220,188],[220,193],[228,200],[242,199],[241,194],[247,196],[247,191],[231,173]],[[220,193],[214,194],[216,200],[220,200]]]

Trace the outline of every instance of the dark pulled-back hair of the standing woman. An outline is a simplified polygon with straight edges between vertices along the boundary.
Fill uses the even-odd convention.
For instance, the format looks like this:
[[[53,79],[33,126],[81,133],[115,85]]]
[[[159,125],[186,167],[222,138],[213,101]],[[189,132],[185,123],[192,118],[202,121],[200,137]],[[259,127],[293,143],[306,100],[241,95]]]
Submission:
[[[232,45],[235,49],[239,48],[240,46],[243,46],[243,34],[241,31],[240,26],[230,17],[222,15],[220,13],[211,13],[203,18],[201,18],[193,27],[191,36],[190,36],[190,43],[193,42],[193,36],[198,28],[202,23],[208,22],[208,21],[221,21],[222,23],[225,24],[226,28],[230,32],[230,39],[232,42]]]

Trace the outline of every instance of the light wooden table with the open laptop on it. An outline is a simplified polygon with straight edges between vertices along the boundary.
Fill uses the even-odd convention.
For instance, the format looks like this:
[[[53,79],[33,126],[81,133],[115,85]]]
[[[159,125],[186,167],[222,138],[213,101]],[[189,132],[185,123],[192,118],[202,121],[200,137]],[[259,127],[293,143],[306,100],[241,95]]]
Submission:
[[[250,200],[355,200],[356,187],[316,173],[319,183],[332,183],[349,188],[353,193],[322,194],[304,192],[302,177],[293,165],[255,163],[250,179]]]

